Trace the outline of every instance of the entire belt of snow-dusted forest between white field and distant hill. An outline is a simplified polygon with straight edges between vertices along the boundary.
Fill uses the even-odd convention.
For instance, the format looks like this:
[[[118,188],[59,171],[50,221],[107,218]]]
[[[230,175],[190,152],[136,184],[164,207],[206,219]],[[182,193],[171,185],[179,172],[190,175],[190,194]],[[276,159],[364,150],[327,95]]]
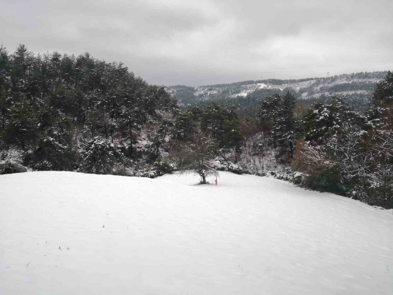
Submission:
[[[344,86],[330,87],[337,89],[322,90]],[[281,175],[391,208],[393,74],[362,87],[374,87],[362,107],[345,96],[306,101],[291,89],[179,105],[165,87],[123,63],[89,53],[34,55],[23,44],[9,53],[1,46],[0,173],[156,177],[187,169],[202,173],[205,183],[209,173],[229,170]]]

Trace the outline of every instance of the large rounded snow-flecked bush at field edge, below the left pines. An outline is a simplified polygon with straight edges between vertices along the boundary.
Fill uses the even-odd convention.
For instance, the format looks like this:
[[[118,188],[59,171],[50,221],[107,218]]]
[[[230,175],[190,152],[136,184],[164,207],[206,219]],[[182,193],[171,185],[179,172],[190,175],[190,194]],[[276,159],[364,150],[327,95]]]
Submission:
[[[105,138],[95,137],[83,146],[81,166],[87,173],[111,174],[116,162],[123,162],[123,154]]]

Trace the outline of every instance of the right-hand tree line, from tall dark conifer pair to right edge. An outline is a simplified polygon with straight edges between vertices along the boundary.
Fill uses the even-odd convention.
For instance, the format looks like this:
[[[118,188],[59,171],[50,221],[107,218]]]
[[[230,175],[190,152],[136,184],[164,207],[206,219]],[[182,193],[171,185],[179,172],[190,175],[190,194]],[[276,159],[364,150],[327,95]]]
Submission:
[[[372,205],[393,206],[390,71],[377,83],[363,112],[354,111],[344,97],[301,107],[287,92],[262,101],[257,117],[277,156],[290,162],[292,171],[303,172],[295,182]]]

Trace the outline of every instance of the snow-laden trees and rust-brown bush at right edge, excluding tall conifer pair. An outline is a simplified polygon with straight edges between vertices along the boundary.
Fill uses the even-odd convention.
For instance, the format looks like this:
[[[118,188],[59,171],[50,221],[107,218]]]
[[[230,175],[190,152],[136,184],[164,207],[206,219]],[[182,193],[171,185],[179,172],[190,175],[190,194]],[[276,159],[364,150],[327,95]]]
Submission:
[[[294,169],[308,188],[347,195],[371,205],[393,205],[393,75],[377,84],[367,116],[343,99],[305,112],[305,140]]]

